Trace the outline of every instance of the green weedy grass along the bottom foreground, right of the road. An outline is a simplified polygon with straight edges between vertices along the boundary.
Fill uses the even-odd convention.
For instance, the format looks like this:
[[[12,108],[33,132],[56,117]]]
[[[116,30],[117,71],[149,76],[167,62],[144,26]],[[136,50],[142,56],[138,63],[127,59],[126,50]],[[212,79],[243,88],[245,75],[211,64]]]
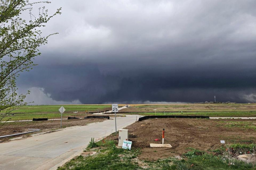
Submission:
[[[103,139],[95,142],[92,138],[93,147],[102,147],[99,152],[93,156],[79,156],[70,160],[58,170],[82,170],[82,169],[145,169],[145,170],[256,170],[255,166],[250,163],[234,161],[232,165],[229,160],[223,159],[222,155],[214,156],[207,154],[204,151],[187,148],[187,153],[184,154],[186,159],[176,160],[174,158],[159,159],[157,161],[139,161],[135,159],[139,150],[124,150],[117,148],[112,140]],[[251,145],[233,144],[230,145],[235,149],[252,149]],[[214,150],[219,152],[224,150]],[[143,164],[143,167],[142,167]]]

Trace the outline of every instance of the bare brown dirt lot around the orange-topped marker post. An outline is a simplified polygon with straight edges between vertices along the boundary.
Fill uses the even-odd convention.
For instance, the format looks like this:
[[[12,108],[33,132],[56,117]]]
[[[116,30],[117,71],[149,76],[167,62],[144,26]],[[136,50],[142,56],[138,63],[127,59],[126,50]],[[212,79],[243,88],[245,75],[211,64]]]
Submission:
[[[181,156],[193,147],[207,151],[221,145],[220,140],[227,143],[252,143],[256,141],[256,130],[227,128],[220,121],[253,121],[256,120],[211,120],[187,118],[158,118],[136,122],[124,129],[129,129],[129,140],[133,148],[141,148],[140,160],[157,160],[167,157]],[[162,142],[162,130],[165,128],[165,143],[172,148],[150,148],[150,143]],[[111,137],[118,141],[118,136]],[[160,141],[154,141],[160,139]]]

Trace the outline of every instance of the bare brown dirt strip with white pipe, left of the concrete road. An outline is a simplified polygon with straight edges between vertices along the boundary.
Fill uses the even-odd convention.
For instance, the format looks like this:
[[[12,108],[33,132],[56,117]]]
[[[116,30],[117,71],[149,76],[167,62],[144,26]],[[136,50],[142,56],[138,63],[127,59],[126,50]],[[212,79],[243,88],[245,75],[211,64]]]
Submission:
[[[84,126],[93,122],[102,122],[106,119],[104,118],[91,118],[91,119],[69,119],[62,120],[62,127],[70,127],[70,126]],[[40,131],[35,133],[41,133],[45,131],[51,131],[60,129],[60,120],[48,120],[48,121],[27,121],[27,122],[7,122],[0,124],[0,136],[27,132],[27,129],[40,129]],[[33,133],[28,133],[20,136],[28,136]],[[15,136],[20,137],[20,136]],[[1,141],[9,141],[10,138],[1,138]]]

